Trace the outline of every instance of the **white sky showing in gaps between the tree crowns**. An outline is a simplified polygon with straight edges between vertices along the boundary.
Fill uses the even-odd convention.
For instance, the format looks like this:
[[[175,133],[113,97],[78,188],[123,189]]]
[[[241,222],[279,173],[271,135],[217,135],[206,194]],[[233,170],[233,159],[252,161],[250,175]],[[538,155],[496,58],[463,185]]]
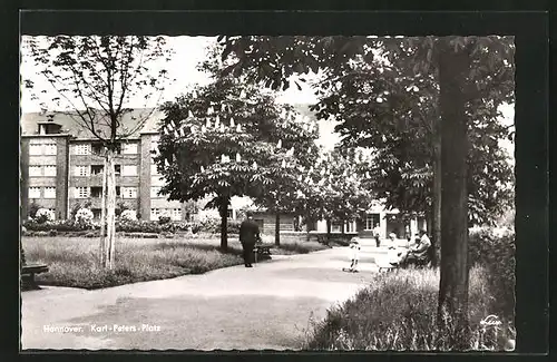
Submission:
[[[207,76],[196,69],[196,66],[205,57],[205,48],[216,41],[216,37],[168,37],[167,43],[175,51],[172,60],[167,63],[163,63],[168,70],[168,76],[170,79],[176,79],[169,82],[166,87],[162,101],[173,100],[179,96],[185,89],[195,84],[207,84]],[[27,61],[25,49],[21,52],[21,66],[20,74],[22,79],[32,79],[37,88],[46,87],[48,84],[35,75],[35,67]],[[277,101],[284,104],[315,104],[316,97],[309,85],[302,85],[302,90],[299,90],[295,86],[290,87],[286,91],[282,91]],[[155,100],[153,100],[155,101]],[[31,94],[26,88],[21,88],[20,98],[21,111],[31,112],[39,111],[40,106],[38,100],[31,99]],[[140,108],[140,107],[153,107],[156,104],[146,104],[141,95],[138,95],[136,99],[131,99],[128,105],[129,108]],[[508,106],[501,109],[504,112],[505,124],[514,123],[514,107]],[[322,120],[320,121],[321,139],[319,144],[323,145],[325,148],[333,148],[339,141],[339,135],[334,134],[334,124],[331,121]],[[506,148],[508,148],[510,155],[514,155],[514,147],[510,141],[502,141]]]

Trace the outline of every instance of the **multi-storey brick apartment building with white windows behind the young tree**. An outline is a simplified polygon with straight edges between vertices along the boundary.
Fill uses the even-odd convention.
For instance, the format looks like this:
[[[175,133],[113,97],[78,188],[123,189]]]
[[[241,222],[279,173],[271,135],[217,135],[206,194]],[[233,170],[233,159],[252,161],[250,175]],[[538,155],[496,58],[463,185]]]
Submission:
[[[164,179],[152,150],[157,149],[159,118],[152,109],[134,109],[121,120],[124,128],[137,130],[121,141],[115,158],[117,204],[137,211],[141,219],[185,221],[192,215],[183,203],[158,195]],[[140,123],[145,124],[137,127]],[[51,209],[57,218],[67,218],[72,208],[88,204],[100,217],[101,151],[98,138],[79,126],[76,114],[22,115],[21,217],[28,217],[31,203]]]

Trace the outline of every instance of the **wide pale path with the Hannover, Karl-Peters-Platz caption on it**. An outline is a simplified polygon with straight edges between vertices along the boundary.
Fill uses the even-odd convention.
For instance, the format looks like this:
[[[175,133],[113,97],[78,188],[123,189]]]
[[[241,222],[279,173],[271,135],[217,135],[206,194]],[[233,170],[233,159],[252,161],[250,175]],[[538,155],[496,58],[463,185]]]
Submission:
[[[273,256],[253,268],[233,266],[98,291],[23,292],[21,345],[25,350],[300,349],[310,317],[323,319],[331,305],[352,297],[377,272],[373,262],[383,251],[372,247],[371,241],[362,244],[360,273],[341,271],[349,264],[348,251],[335,247]]]

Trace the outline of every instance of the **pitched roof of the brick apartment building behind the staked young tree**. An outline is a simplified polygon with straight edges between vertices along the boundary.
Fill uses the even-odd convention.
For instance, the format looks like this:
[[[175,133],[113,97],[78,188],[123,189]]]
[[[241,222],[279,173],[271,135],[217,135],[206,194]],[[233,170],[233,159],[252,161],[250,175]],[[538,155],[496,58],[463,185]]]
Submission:
[[[164,114],[158,109],[153,108],[136,108],[126,111],[121,117],[123,133],[134,130],[128,138],[138,138],[141,133],[157,131],[157,123]],[[21,115],[20,126],[23,136],[32,136],[39,134],[39,123],[51,120],[61,126],[60,133],[69,134],[80,139],[95,139],[92,133],[82,126],[82,121],[76,111],[50,111],[50,112],[28,112]],[[145,123],[138,127],[140,123]],[[108,125],[98,117],[96,128],[99,134],[108,135]]]

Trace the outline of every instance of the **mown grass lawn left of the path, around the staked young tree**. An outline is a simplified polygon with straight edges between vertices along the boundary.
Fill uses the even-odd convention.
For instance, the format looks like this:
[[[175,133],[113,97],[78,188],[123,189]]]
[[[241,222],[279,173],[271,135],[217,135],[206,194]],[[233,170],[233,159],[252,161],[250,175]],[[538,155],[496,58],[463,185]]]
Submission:
[[[98,238],[26,237],[21,238],[28,263],[45,263],[49,272],[38,274],[43,285],[82,287],[88,290],[136,282],[162,280],[241,265],[242,245],[228,238],[228,252],[218,250],[219,238],[127,238],[117,237],[116,266],[102,270],[98,265]],[[305,254],[324,250],[316,242],[284,241],[272,254]]]

